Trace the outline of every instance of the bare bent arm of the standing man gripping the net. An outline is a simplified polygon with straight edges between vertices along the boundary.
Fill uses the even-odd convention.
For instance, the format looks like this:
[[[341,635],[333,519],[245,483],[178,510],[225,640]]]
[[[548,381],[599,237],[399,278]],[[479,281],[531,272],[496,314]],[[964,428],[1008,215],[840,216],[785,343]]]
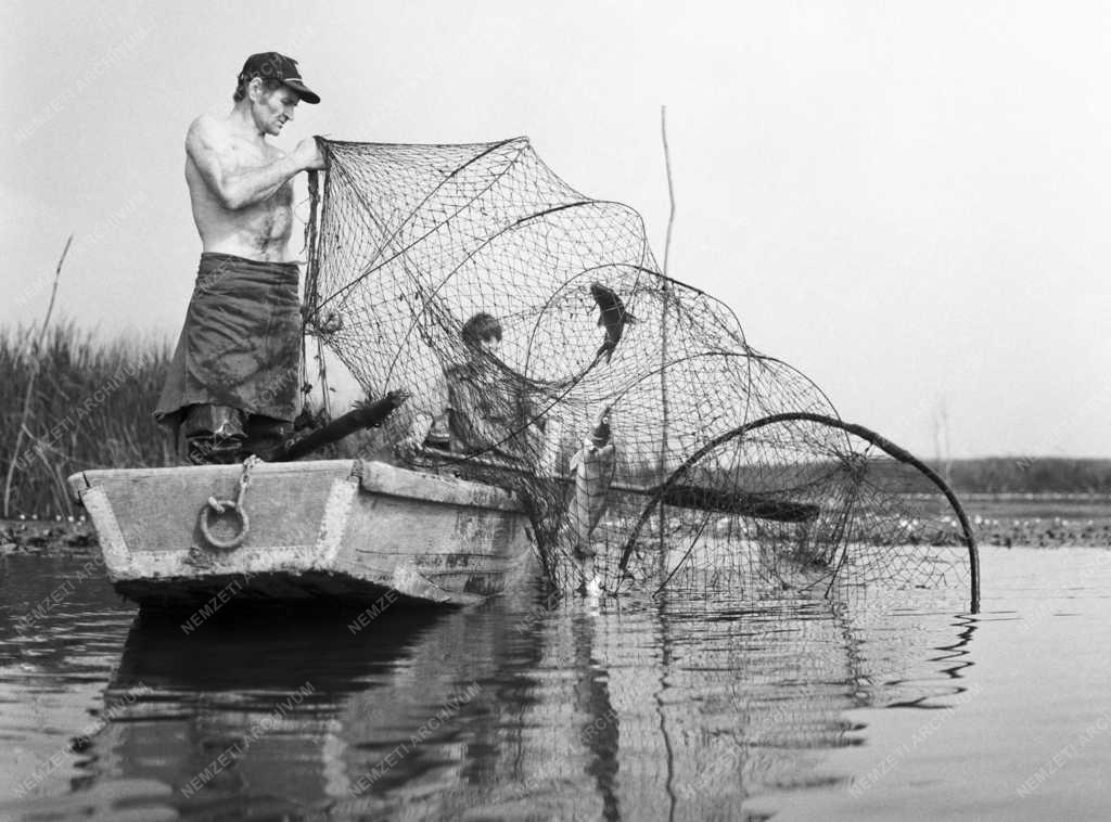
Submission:
[[[236,211],[266,200],[287,180],[307,169],[323,168],[316,140],[308,138],[293,151],[266,166],[237,169],[228,137],[211,119],[199,117],[186,134],[186,153],[224,208]]]

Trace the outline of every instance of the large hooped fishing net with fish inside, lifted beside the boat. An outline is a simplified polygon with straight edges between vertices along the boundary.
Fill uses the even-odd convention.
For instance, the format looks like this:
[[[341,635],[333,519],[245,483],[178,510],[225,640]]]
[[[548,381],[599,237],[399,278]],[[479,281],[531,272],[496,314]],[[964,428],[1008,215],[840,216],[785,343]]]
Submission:
[[[971,584],[974,607],[940,478],[665,277],[633,209],[524,138],[320,142],[307,331],[368,395],[409,393],[372,451],[519,495],[553,584]]]

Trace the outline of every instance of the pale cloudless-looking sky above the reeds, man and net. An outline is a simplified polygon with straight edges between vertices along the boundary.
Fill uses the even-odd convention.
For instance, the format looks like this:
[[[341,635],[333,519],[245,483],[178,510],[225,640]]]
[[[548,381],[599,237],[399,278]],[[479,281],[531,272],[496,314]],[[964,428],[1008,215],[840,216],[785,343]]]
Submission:
[[[942,430],[955,457],[1111,457],[1104,3],[2,8],[0,327],[41,317],[73,232],[60,310],[176,337],[200,252],[186,129],[278,50],[323,98],[279,146],[527,134],[638,209],[661,264],[665,104],[669,273],[752,345],[925,457]]]

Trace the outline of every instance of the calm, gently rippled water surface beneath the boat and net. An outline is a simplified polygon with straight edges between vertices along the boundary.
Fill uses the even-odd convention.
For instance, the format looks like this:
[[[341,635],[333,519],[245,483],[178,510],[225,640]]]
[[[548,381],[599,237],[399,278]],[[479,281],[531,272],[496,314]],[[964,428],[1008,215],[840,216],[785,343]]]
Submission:
[[[0,557],[0,819],[1111,818],[1111,552],[925,591],[137,615]],[[228,618],[223,618],[223,616]]]

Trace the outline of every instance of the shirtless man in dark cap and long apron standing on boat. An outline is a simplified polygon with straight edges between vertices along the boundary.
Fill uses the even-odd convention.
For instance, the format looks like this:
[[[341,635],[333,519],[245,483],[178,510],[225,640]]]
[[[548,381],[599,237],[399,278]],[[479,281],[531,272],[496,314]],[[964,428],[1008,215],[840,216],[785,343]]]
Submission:
[[[267,141],[298,102],[320,98],[297,61],[252,54],[227,117],[186,136],[186,182],[202,254],[186,322],[154,412],[181,429],[194,463],[267,457],[289,433],[300,388],[299,271],[288,257],[291,179],[323,168],[317,141],[286,154]]]

